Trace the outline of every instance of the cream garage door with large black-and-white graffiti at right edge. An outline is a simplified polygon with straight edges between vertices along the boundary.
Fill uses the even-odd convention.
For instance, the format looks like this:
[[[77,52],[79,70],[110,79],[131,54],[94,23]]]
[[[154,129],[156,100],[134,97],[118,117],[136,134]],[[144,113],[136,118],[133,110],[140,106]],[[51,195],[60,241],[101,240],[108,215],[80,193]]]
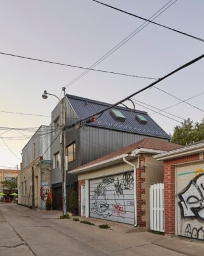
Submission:
[[[177,168],[177,233],[204,239],[204,164]]]

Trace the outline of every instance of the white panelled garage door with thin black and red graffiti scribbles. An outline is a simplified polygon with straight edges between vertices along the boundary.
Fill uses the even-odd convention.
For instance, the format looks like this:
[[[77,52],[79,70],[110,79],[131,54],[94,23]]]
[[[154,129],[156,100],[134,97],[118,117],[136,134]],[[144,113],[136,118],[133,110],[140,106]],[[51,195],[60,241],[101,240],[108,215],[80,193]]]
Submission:
[[[90,180],[90,216],[135,224],[133,172]]]

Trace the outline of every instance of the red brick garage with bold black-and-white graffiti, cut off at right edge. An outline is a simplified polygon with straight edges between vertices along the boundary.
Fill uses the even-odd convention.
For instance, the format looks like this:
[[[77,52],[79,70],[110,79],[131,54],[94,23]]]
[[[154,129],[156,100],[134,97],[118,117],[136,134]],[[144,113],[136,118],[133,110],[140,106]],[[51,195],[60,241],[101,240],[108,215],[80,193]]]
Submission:
[[[155,156],[164,163],[165,234],[204,239],[204,142]]]

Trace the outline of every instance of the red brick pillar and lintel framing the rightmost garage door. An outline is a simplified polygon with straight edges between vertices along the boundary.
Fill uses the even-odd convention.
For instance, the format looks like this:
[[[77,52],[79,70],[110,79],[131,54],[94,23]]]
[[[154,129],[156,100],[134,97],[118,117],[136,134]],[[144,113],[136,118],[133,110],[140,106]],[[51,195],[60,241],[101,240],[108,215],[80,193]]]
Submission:
[[[174,164],[199,159],[199,154],[164,161],[164,221],[165,234],[175,234],[175,167]]]

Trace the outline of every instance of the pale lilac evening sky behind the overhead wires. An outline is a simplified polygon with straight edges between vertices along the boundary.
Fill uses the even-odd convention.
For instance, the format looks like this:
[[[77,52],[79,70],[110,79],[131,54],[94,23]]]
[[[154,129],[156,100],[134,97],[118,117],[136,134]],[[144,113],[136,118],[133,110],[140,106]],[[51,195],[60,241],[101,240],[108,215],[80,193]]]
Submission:
[[[201,26],[204,24],[204,2],[201,0],[101,2],[147,19],[164,4],[175,2],[154,21],[204,38]],[[90,67],[142,23],[140,19],[91,0],[3,1],[0,9],[0,52]],[[95,68],[159,78],[203,54],[203,48],[203,42],[149,24]],[[182,100],[202,93],[203,65],[204,60],[200,60],[158,83],[157,87]],[[62,87],[70,84],[83,71],[0,54],[0,127],[32,127],[34,131],[41,124],[49,125],[49,116],[57,99],[48,97],[43,100],[43,91],[47,90],[59,97]],[[113,104],[153,81],[90,71],[68,86],[66,93]],[[204,109],[203,95],[188,102]],[[134,99],[159,109],[180,102],[156,88],[146,90]],[[131,103],[127,102],[127,105],[132,108]],[[203,118],[203,111],[184,102],[166,110],[179,116],[180,118],[176,118],[168,115],[178,122],[138,104],[135,104],[135,108],[147,111],[168,134],[173,134],[175,125],[182,122],[181,118],[191,118],[194,122],[200,122]],[[17,115],[1,111],[47,116]],[[0,138],[0,168],[17,164],[19,166],[22,148],[29,140],[28,134],[31,137],[33,133],[8,131],[1,134],[2,132],[4,131],[0,129],[3,138]]]

